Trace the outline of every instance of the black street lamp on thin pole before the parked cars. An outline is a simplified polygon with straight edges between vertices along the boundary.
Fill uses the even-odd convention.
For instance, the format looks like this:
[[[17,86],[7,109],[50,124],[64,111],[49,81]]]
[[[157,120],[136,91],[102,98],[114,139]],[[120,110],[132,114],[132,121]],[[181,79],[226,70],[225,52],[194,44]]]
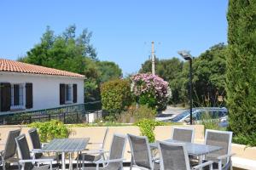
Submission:
[[[190,51],[182,50],[178,51],[177,54],[180,54],[183,59],[189,60],[189,103],[190,103],[190,125],[192,125],[192,56]]]

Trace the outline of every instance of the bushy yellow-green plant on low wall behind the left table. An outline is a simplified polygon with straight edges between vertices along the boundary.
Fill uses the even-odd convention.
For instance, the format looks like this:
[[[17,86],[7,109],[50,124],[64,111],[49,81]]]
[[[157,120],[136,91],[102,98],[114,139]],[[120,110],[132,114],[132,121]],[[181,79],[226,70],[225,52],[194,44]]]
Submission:
[[[60,121],[32,122],[28,127],[38,128],[41,142],[49,142],[52,139],[67,138],[70,131]]]

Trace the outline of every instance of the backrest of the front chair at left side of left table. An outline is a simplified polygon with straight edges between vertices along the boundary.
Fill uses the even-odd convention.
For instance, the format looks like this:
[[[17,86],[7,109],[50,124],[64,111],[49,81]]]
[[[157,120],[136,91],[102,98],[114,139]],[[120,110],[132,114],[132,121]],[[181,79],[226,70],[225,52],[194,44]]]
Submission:
[[[30,151],[29,151],[29,147],[28,147],[28,144],[26,141],[25,134],[21,134],[15,140],[16,140],[16,143],[18,146],[18,150],[20,152],[20,159],[21,160],[31,160],[32,157],[30,156]],[[26,162],[24,164],[23,169],[32,170],[33,167],[34,167],[34,165],[32,164],[32,162]]]

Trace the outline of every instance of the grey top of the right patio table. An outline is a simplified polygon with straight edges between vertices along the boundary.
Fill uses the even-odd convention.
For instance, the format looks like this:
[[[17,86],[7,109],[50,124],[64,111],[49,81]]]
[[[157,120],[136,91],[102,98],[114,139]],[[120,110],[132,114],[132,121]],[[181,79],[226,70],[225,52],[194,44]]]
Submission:
[[[179,140],[172,140],[172,139],[167,139],[165,140],[166,142],[171,142],[171,143],[183,143],[185,144],[185,147],[188,151],[188,154],[190,156],[203,156],[207,155],[209,153],[212,153],[214,151],[222,150],[222,147],[219,146],[212,146],[212,145],[207,145],[207,144],[195,144],[195,143],[188,143],[188,142],[182,142]],[[151,147],[157,147],[156,143],[150,144]]]

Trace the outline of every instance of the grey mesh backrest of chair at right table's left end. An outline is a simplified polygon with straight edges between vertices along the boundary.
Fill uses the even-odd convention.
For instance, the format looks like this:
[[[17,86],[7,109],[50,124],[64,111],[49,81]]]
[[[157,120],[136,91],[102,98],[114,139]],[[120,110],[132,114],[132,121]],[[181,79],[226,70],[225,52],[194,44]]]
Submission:
[[[128,134],[128,139],[131,147],[131,156],[133,165],[153,169],[151,151],[146,136],[135,136]]]

